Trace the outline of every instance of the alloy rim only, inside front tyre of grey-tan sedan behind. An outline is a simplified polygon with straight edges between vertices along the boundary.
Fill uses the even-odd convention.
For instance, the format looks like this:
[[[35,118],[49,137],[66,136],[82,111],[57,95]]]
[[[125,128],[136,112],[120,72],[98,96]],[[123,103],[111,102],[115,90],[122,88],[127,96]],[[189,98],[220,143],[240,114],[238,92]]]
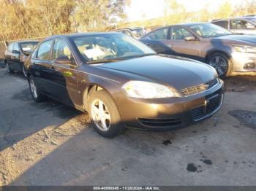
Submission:
[[[209,61],[209,65],[213,66],[214,69],[216,69],[219,77],[227,72],[227,61],[220,55],[215,55],[213,58],[211,58],[211,60]]]

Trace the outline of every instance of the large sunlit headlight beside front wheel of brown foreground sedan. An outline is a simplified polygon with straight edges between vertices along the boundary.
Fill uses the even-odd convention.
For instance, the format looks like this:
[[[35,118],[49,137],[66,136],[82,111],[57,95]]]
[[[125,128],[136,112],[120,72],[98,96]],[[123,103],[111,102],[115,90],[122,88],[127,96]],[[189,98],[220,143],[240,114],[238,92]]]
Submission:
[[[170,87],[153,82],[129,81],[122,88],[132,98],[179,97],[178,93]]]

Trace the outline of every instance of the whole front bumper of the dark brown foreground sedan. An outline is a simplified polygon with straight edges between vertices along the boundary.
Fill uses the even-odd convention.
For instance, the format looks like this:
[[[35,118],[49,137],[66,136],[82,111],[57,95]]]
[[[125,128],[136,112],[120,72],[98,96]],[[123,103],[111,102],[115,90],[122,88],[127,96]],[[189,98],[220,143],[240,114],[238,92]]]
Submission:
[[[121,104],[118,109],[126,127],[170,130],[211,117],[221,108],[223,98],[224,85],[221,81],[206,92],[186,98],[163,98],[157,101],[126,98],[118,103]]]

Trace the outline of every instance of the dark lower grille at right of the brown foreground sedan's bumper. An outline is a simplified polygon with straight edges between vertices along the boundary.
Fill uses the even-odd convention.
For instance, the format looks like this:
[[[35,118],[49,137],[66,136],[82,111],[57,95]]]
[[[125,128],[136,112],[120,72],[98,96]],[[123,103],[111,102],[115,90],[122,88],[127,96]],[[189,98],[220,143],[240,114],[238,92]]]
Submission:
[[[206,104],[192,109],[193,120],[201,120],[214,112],[222,104],[222,93],[211,93],[206,96]]]

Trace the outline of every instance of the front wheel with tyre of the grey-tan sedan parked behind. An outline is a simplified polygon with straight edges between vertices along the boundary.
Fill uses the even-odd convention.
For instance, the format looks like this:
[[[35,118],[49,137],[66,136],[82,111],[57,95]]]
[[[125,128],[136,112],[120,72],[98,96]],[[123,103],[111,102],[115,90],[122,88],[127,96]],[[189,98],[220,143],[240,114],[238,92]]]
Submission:
[[[210,66],[213,66],[216,69],[219,77],[228,77],[231,74],[231,61],[230,58],[227,57],[222,52],[215,52],[210,55],[207,63]]]

